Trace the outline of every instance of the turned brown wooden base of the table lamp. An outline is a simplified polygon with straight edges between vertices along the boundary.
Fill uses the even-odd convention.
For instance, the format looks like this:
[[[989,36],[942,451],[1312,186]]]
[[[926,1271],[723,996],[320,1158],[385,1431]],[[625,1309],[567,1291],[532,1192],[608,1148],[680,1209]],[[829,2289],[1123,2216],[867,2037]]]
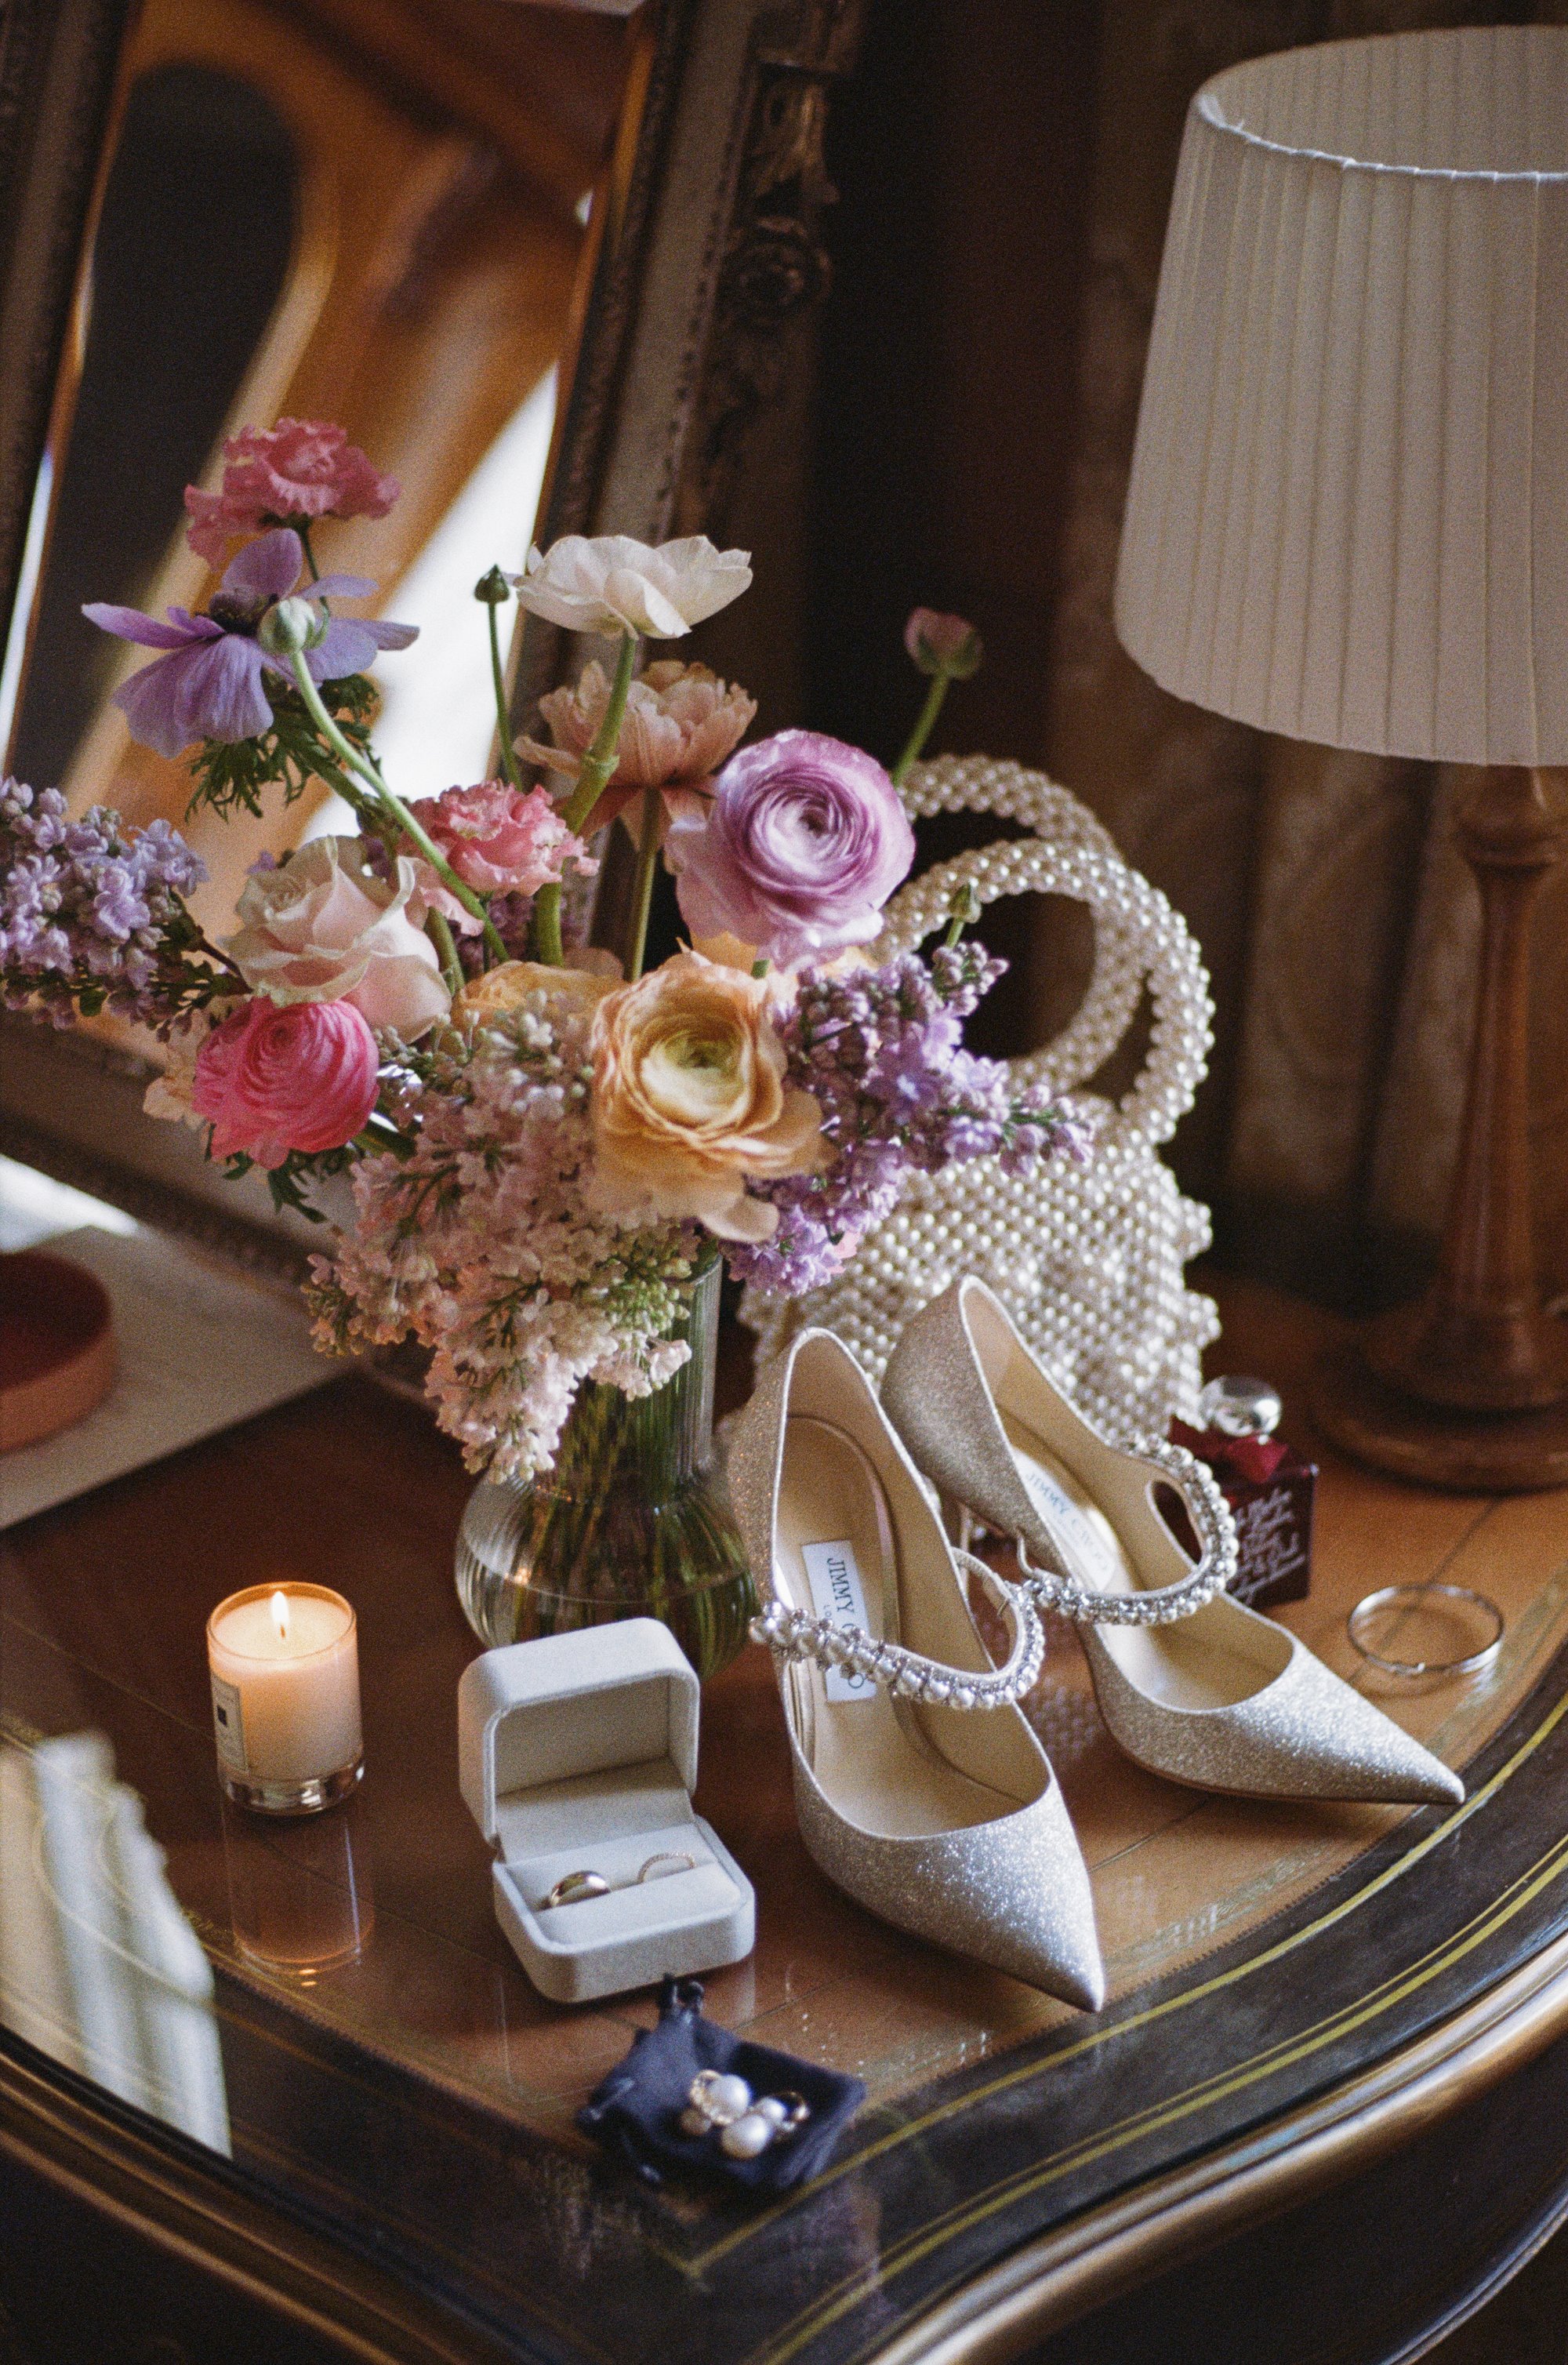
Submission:
[[[1313,1417],[1426,1485],[1568,1485],[1568,1322],[1542,1310],[1530,1225],[1530,906],[1561,854],[1566,773],[1478,773],[1457,840],[1480,889],[1476,1041],[1438,1275],[1324,1358]]]

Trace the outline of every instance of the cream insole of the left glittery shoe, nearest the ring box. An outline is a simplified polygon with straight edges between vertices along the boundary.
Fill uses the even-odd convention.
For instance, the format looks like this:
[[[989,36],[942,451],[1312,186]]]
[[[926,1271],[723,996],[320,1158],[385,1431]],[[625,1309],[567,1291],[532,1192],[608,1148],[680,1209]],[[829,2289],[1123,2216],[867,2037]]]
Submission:
[[[773,1585],[790,1608],[899,1641],[899,1547],[887,1495],[854,1438],[830,1421],[788,1421],[773,1533]],[[929,1575],[953,1585],[946,1568]],[[837,1814],[861,1831],[906,1840],[1017,1812],[1017,1797],[948,1764],[913,1703],[816,1660],[795,1660],[790,1679],[806,1764]]]

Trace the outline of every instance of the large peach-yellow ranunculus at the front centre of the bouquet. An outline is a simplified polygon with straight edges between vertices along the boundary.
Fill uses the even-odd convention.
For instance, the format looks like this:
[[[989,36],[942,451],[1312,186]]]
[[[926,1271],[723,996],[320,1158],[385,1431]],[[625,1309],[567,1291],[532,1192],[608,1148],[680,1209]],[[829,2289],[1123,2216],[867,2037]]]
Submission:
[[[778,1209],[747,1182],[823,1161],[821,1109],[785,1081],[762,977],[676,953],[594,1012],[594,1175],[603,1213],[698,1218],[769,1239]]]

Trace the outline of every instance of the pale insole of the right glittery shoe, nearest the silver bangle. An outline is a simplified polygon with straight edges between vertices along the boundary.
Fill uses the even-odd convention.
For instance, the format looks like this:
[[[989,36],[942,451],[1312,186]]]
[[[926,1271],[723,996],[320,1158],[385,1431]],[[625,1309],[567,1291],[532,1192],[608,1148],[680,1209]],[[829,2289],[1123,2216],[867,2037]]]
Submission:
[[[1067,1575],[1095,1594],[1142,1592],[1133,1556],[1088,1488],[1007,1412],[1003,1428]],[[1227,1615],[1235,1608],[1218,1599],[1168,1627],[1097,1625],[1093,1632],[1128,1684],[1161,1708],[1235,1708],[1272,1684],[1289,1656],[1284,1637],[1270,1627],[1258,1634],[1251,1618]]]

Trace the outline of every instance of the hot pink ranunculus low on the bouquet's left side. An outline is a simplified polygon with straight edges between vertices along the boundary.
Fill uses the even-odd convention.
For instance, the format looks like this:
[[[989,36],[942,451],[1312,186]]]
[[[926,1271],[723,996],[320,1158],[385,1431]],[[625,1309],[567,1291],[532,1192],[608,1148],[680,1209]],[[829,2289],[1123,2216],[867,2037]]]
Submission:
[[[376,1107],[376,1036],[352,1003],[241,1003],[196,1052],[192,1107],[213,1156],[281,1166],[341,1149]]]

